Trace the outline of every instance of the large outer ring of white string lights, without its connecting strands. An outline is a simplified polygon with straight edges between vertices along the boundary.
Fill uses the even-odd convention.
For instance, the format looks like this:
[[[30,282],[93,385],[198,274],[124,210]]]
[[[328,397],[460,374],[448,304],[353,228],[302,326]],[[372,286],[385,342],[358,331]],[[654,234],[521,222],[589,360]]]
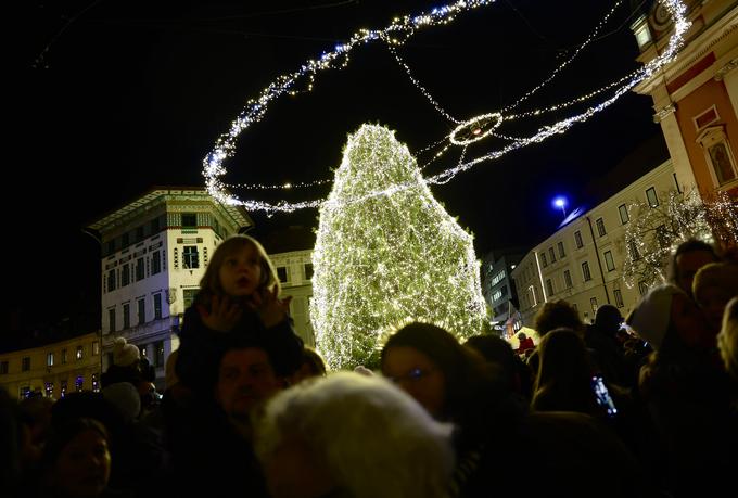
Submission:
[[[438,23],[449,23],[454,20],[454,15],[459,12],[470,11],[478,7],[494,3],[494,1],[495,0],[459,0],[454,4],[433,9],[430,13],[423,13],[416,16],[406,15],[402,18],[395,18],[393,24],[383,30],[360,29],[352,36],[348,42],[338,44],[333,52],[323,52],[323,54],[318,60],[307,61],[307,63],[303,64],[298,71],[290,75],[279,76],[272,84],[262,91],[257,100],[249,101],[246,108],[231,124],[230,131],[228,133],[224,133],[217,140],[215,149],[203,161],[203,176],[205,177],[205,184],[211,195],[225,204],[242,205],[246,209],[265,210],[267,213],[292,213],[297,209],[319,207],[323,203],[322,200],[303,201],[298,203],[280,201],[277,204],[270,204],[260,201],[241,201],[240,199],[228,193],[226,191],[227,186],[219,179],[219,177],[226,173],[225,168],[222,167],[222,162],[226,158],[232,156],[234,153],[236,138],[249,126],[259,122],[264,117],[269,102],[278,97],[283,95],[284,93],[296,94],[297,90],[295,90],[295,84],[298,80],[306,77],[309,80],[308,90],[310,90],[314,77],[319,71],[334,67],[341,58],[345,58],[343,59],[343,66],[348,64],[348,52],[351,52],[351,50],[353,50],[356,46],[365,44],[374,40],[383,40],[391,46],[402,46],[416,33],[417,29],[420,29],[421,27],[436,25]],[[686,7],[680,0],[659,0],[659,3],[664,5],[674,22],[674,33],[669,39],[666,49],[660,55],[647,63],[644,67],[636,71],[634,78],[619,88],[614,97],[596,106],[589,107],[584,113],[554,123],[552,125],[544,126],[535,135],[529,138],[514,140],[512,143],[508,144],[501,150],[493,151],[468,163],[459,164],[456,167],[448,168],[433,177],[427,178],[425,181],[428,183],[445,183],[458,173],[466,171],[483,161],[494,161],[510,151],[520,149],[531,143],[539,143],[554,135],[562,133],[571,128],[571,126],[574,124],[582,123],[591,117],[594,114],[608,107],[640,81],[652,77],[659,69],[661,69],[661,67],[663,67],[676,56],[678,49],[684,42],[684,34],[690,26],[690,23],[685,18]],[[542,86],[549,80],[550,79],[544,81]],[[609,87],[611,86],[612,84]],[[539,87],[536,87],[533,92],[538,88]],[[521,114],[518,116],[521,116]],[[469,119],[466,123],[469,123],[474,118]],[[448,139],[450,140],[450,136]],[[389,195],[395,191],[407,188],[408,186],[395,186],[391,189],[377,191],[370,195]],[[360,200],[354,201],[360,202]]]

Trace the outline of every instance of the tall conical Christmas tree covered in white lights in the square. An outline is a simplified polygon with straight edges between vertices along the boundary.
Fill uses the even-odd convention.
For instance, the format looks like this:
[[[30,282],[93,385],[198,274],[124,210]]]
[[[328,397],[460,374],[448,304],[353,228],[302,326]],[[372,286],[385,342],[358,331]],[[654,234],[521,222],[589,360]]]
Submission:
[[[485,304],[472,237],[423,182],[392,131],[362,125],[348,138],[320,208],[310,317],[333,369],[372,365],[408,320],[458,337],[482,331]]]

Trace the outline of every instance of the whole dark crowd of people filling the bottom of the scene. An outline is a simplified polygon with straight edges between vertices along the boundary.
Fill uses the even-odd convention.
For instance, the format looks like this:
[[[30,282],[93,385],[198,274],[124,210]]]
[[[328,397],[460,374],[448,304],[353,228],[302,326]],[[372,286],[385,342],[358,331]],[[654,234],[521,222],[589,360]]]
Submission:
[[[735,494],[738,263],[688,241],[672,266],[627,317],[605,305],[585,324],[546,303],[540,340],[524,349],[412,322],[380,365],[327,372],[294,333],[262,245],[234,235],[186,312],[162,396],[124,340],[100,393],[18,403],[0,392],[0,494]]]

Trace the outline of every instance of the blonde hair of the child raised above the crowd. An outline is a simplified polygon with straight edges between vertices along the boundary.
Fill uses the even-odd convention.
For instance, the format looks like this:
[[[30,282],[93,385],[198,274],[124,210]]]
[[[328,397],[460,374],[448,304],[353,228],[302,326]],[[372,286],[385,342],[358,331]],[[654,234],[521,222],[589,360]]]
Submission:
[[[198,293],[198,302],[200,304],[209,305],[211,297],[225,294],[220,282],[220,267],[229,256],[247,246],[251,246],[256,251],[259,258],[259,266],[262,267],[262,281],[259,282],[257,290],[262,291],[268,289],[273,291],[276,288],[277,294],[279,294],[281,286],[279,284],[279,278],[277,277],[277,270],[275,269],[271,259],[269,259],[267,252],[264,250],[264,246],[253,237],[238,234],[229,237],[215,248],[213,257],[211,257],[211,261],[205,270],[205,274],[200,280],[200,292]]]

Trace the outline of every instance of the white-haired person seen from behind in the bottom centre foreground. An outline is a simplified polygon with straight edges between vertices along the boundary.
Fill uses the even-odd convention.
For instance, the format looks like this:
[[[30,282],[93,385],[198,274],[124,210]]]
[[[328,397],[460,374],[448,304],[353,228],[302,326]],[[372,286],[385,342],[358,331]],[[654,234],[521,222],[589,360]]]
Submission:
[[[379,375],[302,382],[255,418],[255,450],[273,498],[448,494],[451,425]]]

